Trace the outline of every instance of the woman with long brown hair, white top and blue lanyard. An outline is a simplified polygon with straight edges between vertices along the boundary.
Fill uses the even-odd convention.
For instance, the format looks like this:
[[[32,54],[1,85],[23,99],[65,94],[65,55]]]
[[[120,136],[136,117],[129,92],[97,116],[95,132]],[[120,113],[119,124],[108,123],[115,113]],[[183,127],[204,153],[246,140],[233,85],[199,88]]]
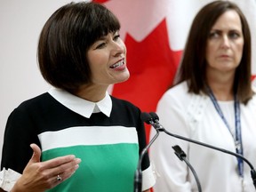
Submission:
[[[206,4],[190,28],[177,83],[157,105],[161,124],[169,132],[228,149],[255,163],[251,54],[250,29],[237,5]],[[170,149],[177,144],[195,168],[202,191],[255,191],[250,167],[242,160],[161,134],[150,149],[160,175],[155,192],[197,191],[192,172]]]

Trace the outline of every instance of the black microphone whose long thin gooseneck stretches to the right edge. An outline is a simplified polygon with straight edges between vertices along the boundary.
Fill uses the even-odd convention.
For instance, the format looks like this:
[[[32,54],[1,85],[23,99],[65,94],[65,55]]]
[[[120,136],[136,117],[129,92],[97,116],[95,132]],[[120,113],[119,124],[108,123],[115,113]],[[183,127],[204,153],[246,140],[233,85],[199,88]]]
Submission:
[[[214,150],[218,150],[220,152],[223,152],[223,153],[226,153],[226,154],[229,154],[231,156],[236,156],[237,158],[240,158],[242,159],[246,164],[249,165],[249,167],[251,168],[251,177],[252,177],[252,183],[254,185],[254,188],[256,189],[256,172],[254,170],[254,167],[252,166],[252,164],[249,162],[249,160],[247,160],[244,156],[241,156],[240,154],[236,154],[232,151],[228,151],[224,148],[217,148],[217,147],[214,147],[212,145],[209,145],[209,144],[206,144],[206,143],[203,143],[203,142],[200,142],[200,141],[197,141],[197,140],[191,140],[191,139],[188,139],[186,137],[182,137],[180,135],[176,135],[176,134],[173,134],[171,132],[167,132],[165,129],[164,129],[164,126],[162,124],[159,123],[159,116],[157,116],[156,113],[154,112],[150,112],[149,113],[150,116],[152,117],[152,120],[151,121],[148,121],[147,124],[151,124],[156,130],[158,130],[158,132],[165,132],[166,134],[172,136],[172,137],[175,137],[175,138],[178,138],[180,140],[187,140],[188,142],[193,142],[197,145],[201,145],[201,146],[204,146],[206,148],[212,148]]]

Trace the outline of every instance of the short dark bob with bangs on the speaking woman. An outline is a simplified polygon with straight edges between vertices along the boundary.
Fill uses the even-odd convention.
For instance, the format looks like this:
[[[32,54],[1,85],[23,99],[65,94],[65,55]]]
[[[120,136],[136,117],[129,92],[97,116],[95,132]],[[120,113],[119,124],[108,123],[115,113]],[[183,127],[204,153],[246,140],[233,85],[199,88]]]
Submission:
[[[101,36],[119,29],[116,16],[102,4],[72,2],[60,7],[39,37],[37,57],[42,76],[68,92],[90,84],[87,51]]]

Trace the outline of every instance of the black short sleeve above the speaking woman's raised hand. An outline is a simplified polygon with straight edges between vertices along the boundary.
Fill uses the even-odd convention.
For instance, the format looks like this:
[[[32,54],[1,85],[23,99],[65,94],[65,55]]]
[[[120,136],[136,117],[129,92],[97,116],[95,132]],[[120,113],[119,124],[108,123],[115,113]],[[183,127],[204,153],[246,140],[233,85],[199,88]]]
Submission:
[[[8,117],[4,130],[1,170],[11,168],[22,173],[32,156],[31,143],[39,147],[35,126],[26,108],[15,108]]]

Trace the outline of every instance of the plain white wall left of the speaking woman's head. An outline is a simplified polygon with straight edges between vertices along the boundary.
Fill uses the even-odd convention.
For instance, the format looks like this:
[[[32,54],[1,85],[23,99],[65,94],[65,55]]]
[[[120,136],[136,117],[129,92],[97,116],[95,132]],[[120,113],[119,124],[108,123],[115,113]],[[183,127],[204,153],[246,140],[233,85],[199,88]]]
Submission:
[[[185,4],[186,1],[184,0]],[[70,1],[0,0],[0,160],[4,127],[13,108],[49,88],[37,68],[37,40],[44,22],[52,12],[68,2]],[[245,10],[244,13],[246,14]],[[251,27],[252,31],[256,31],[255,23]],[[252,36],[255,38],[255,34]],[[255,39],[253,47],[255,50]],[[253,70],[255,72],[255,68]]]

